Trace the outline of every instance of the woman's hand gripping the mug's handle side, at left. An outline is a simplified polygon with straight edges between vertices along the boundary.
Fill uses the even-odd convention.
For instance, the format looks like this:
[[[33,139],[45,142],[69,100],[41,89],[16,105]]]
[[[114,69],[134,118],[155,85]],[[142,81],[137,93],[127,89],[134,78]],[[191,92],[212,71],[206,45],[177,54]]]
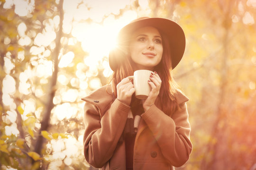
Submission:
[[[117,99],[128,106],[131,103],[132,94],[134,92],[134,85],[130,82],[130,79],[127,77],[122,79],[117,85]]]

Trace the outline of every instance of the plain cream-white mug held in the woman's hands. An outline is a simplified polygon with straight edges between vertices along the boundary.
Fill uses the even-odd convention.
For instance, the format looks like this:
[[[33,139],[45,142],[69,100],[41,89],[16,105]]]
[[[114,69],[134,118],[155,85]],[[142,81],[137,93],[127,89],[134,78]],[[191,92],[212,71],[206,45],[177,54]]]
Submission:
[[[133,79],[137,99],[146,99],[151,92],[152,88],[147,82],[151,73],[153,72],[150,70],[136,70],[133,76],[128,76],[129,79]]]

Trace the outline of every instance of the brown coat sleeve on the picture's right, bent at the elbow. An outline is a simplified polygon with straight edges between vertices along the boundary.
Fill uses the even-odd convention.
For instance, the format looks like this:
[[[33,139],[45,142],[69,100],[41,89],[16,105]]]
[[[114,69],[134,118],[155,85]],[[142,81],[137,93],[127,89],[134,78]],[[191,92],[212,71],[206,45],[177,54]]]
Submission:
[[[175,167],[182,166],[192,152],[187,105],[183,102],[180,107],[181,110],[175,111],[172,118],[155,105],[141,115],[155,136],[165,159]]]

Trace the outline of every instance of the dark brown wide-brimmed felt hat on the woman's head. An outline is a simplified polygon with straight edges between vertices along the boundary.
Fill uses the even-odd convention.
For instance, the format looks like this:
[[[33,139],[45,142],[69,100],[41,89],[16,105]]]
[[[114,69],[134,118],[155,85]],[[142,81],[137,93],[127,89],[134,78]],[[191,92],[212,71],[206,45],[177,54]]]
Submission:
[[[166,36],[169,41],[169,48],[171,51],[171,60],[172,60],[172,69],[174,69],[183,57],[185,51],[185,34],[181,26],[176,22],[161,17],[139,17],[128,25],[124,26],[118,34],[117,46],[119,49],[122,49],[120,46],[123,45],[124,41],[127,41],[127,38],[138,28],[145,26],[153,26],[160,34]],[[110,51],[109,54],[109,64],[110,68],[115,71],[121,62],[119,59],[121,55],[116,51]]]

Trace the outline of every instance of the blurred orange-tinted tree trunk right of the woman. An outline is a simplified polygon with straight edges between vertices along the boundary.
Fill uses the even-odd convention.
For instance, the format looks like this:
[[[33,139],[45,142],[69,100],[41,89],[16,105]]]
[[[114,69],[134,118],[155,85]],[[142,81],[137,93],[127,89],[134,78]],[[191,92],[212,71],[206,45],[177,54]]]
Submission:
[[[221,3],[221,2],[220,2]],[[222,6],[223,4],[220,4]],[[221,8],[221,7],[220,7]],[[227,124],[227,114],[228,110],[228,102],[226,94],[227,94],[227,86],[228,86],[228,56],[229,56],[229,49],[228,49],[228,41],[229,41],[229,29],[232,24],[230,20],[230,9],[232,5],[229,4],[223,5],[222,9],[224,12],[223,18],[223,27],[224,27],[224,35],[222,39],[222,46],[223,46],[223,55],[221,56],[221,67],[220,67],[220,86],[219,86],[219,102],[217,105],[216,110],[216,119],[214,120],[212,132],[210,136],[210,140],[215,140],[216,142],[212,144],[212,141],[209,141],[207,145],[206,153],[212,153],[212,157],[210,162],[207,162],[204,158],[201,162],[201,168],[206,170],[222,170],[225,169],[225,161],[228,158],[223,157],[226,152],[227,147],[227,138],[225,136],[225,125]],[[224,11],[226,9],[226,11]]]

